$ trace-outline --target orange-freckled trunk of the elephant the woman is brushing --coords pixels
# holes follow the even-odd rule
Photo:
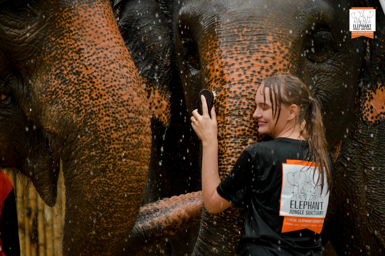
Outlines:
[[[263,27],[261,24],[259,26]],[[229,174],[243,150],[252,143],[263,140],[263,136],[258,133],[258,122],[252,117],[255,110],[255,93],[262,78],[278,70],[285,73],[284,70],[289,66],[288,49],[281,48],[279,51],[275,49],[276,45],[272,43],[275,40],[273,36],[269,38],[271,42],[269,43],[266,38],[263,40],[265,33],[261,32],[260,28],[242,29],[246,32],[253,31],[255,34],[243,35],[244,41],[221,42],[221,38],[231,37],[227,33],[234,30],[222,31],[219,50],[210,55],[218,56],[218,59],[202,60],[202,66],[218,66],[216,75],[208,73],[210,72],[208,69],[205,70],[207,74],[204,77],[208,78],[208,87],[218,94],[215,109],[218,120],[218,170],[221,180]],[[247,38],[248,36],[252,38]],[[253,48],[253,52],[248,42],[260,44],[253,45],[256,47]],[[270,47],[269,52],[265,52],[267,47]],[[210,49],[204,49],[202,52],[209,51]],[[228,56],[224,57],[223,53]],[[229,56],[232,57],[228,58]],[[211,63],[204,63],[205,61]],[[229,208],[224,213],[214,215],[204,209],[193,255],[234,255],[240,238],[242,212],[243,209]],[[216,227],[222,228],[219,231]],[[214,249],[211,246],[213,240],[218,244]]]

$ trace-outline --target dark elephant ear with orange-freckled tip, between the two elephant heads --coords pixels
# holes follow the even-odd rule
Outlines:
[[[114,0],[117,25],[129,50],[151,110],[151,118],[171,123],[170,30],[155,0]]]

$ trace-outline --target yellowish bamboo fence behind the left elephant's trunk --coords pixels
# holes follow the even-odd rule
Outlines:
[[[8,173],[9,174],[9,173]],[[15,191],[21,256],[62,256],[65,187],[62,171],[57,202],[47,206],[26,178],[9,175]]]

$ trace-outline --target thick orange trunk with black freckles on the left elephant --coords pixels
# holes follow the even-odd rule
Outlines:
[[[124,254],[151,148],[141,80],[109,2],[61,2],[50,18],[55,32],[24,111],[57,138],[66,186],[63,254]]]

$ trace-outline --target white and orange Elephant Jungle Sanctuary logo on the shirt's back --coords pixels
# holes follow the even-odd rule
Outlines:
[[[329,192],[326,193],[327,181],[324,176],[321,193],[321,179],[317,183],[319,174],[315,170],[315,163],[308,161],[286,160],[282,164],[282,233],[305,228],[321,233]]]

